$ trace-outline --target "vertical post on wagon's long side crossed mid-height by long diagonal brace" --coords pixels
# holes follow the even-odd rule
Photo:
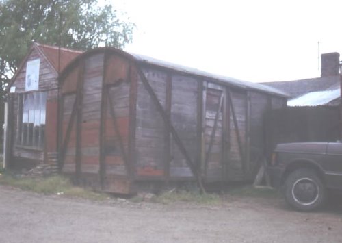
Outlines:
[[[168,73],[166,77],[166,100],[165,110],[168,119],[171,119],[171,104],[172,104],[172,75]],[[164,159],[164,173],[166,180],[170,179],[170,162],[171,162],[171,131],[170,125],[164,123],[164,142],[165,142],[165,159]]]

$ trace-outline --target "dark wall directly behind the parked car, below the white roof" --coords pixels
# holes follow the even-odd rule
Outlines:
[[[265,116],[267,155],[286,142],[336,142],[339,140],[339,107],[285,107]]]

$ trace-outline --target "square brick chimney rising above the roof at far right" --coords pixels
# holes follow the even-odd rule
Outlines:
[[[339,75],[339,62],[337,52],[321,54],[321,77]]]

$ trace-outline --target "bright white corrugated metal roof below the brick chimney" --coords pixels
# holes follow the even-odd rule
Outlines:
[[[338,99],[341,96],[341,91],[339,88],[335,90],[324,90],[317,92],[309,92],[302,95],[301,97],[291,99],[287,101],[288,106],[317,106],[326,105]]]

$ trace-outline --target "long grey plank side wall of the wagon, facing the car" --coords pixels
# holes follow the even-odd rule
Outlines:
[[[185,154],[206,181],[254,178],[266,150],[263,116],[272,107],[284,106],[285,98],[215,84],[146,64],[143,74],[162,109],[139,79],[135,128],[137,179],[194,179]]]

